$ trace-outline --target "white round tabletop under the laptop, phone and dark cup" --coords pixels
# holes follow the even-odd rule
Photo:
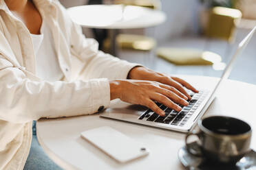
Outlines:
[[[215,77],[180,77],[198,88],[213,88],[218,80]],[[251,147],[256,149],[255,96],[255,85],[226,80],[204,116],[219,114],[248,122],[253,128]],[[120,164],[81,138],[81,132],[101,126],[113,127],[144,143],[151,151],[149,156]],[[36,128],[45,153],[64,169],[184,169],[177,155],[178,149],[184,146],[185,134],[179,132],[102,119],[99,114],[41,119]]]

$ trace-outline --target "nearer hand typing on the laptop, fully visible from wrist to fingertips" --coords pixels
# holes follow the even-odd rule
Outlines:
[[[151,82],[144,80],[109,80],[110,95],[112,99],[121,99],[130,104],[140,104],[147,106],[160,116],[164,116],[164,111],[160,109],[154,101],[164,104],[177,112],[182,108],[178,106],[187,106],[188,98],[180,93],[179,90],[161,84],[159,82]]]

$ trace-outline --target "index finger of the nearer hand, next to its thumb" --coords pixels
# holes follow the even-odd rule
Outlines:
[[[168,108],[172,108],[173,110],[176,110],[177,112],[180,112],[182,108],[175,104],[171,99],[168,97],[160,94],[160,93],[153,93],[151,95],[151,99],[158,101],[160,104],[164,104],[164,106],[167,106]]]

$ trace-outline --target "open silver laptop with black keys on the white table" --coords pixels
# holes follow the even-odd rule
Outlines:
[[[242,53],[246,45],[253,36],[256,27],[254,27],[249,34],[239,42],[239,45],[228,62],[224,73],[220,80],[211,89],[200,89],[199,93],[192,93],[188,90],[189,95],[192,99],[189,101],[189,106],[182,106],[180,112],[176,112],[171,108],[167,108],[163,104],[156,103],[165,112],[164,117],[160,117],[158,114],[150,109],[139,110],[139,106],[134,107],[123,107],[123,102],[119,102],[119,108],[108,108],[100,115],[102,118],[115,119],[119,121],[125,121],[129,123],[138,123],[141,125],[149,125],[152,127],[160,127],[167,130],[174,130],[178,132],[189,132],[196,125],[198,119],[206,112],[207,108],[210,106],[211,102],[215,98],[217,89],[223,84],[224,80],[228,78],[233,68],[233,64],[237,59],[237,56]],[[138,107],[138,110],[137,108]]]

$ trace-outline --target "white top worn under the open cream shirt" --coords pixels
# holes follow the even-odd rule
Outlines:
[[[36,75],[50,82],[63,78],[63,72],[58,64],[50,27],[45,22],[41,25],[41,34],[31,34],[36,60]]]

